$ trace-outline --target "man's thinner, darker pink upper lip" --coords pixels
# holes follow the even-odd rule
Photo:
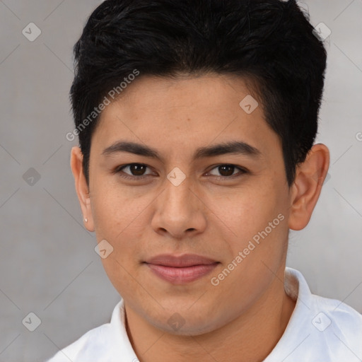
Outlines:
[[[185,254],[185,255],[171,255],[161,254],[156,257],[151,257],[146,260],[147,264],[163,265],[165,267],[192,267],[194,265],[209,265],[217,263],[216,260],[208,257],[202,257],[202,255]]]

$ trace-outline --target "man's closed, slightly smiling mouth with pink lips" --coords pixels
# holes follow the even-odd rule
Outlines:
[[[187,284],[206,276],[220,264],[201,255],[157,255],[144,262],[160,279],[171,284]]]

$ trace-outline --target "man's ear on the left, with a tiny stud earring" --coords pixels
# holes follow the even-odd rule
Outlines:
[[[81,204],[84,226],[88,231],[94,231],[91,198],[89,197],[86,177],[83,173],[83,154],[81,153],[81,148],[76,146],[71,148],[71,172],[74,175],[76,193],[78,195],[79,204]],[[85,219],[87,219],[87,222]]]

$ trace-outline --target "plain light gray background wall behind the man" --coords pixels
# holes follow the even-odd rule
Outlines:
[[[65,138],[73,130],[71,50],[100,2],[0,1],[0,362],[44,361],[108,322],[119,300],[83,228],[69,167],[76,141]],[[308,227],[291,232],[288,266],[313,293],[361,313],[362,0],[300,6],[313,26],[332,30],[317,139],[331,164]],[[34,42],[22,34],[30,22],[42,31]],[[29,168],[40,175],[33,185]],[[41,320],[34,332],[22,324],[30,312]]]

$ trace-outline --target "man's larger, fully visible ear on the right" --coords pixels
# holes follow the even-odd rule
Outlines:
[[[308,225],[329,168],[329,150],[324,144],[315,144],[305,161],[297,166],[292,185],[291,212],[288,227],[301,230]]]

